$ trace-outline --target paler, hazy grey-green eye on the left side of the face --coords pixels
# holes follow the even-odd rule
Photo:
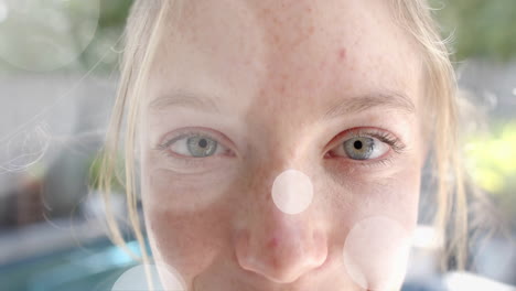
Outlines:
[[[215,139],[198,133],[174,138],[163,144],[162,148],[175,154],[192,158],[208,158],[226,151],[225,147],[219,144]]]

